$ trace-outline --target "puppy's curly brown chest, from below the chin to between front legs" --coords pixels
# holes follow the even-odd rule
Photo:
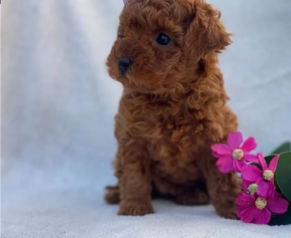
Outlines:
[[[127,103],[120,116],[130,134],[145,143],[154,173],[181,183],[196,179],[203,141],[194,116],[171,113],[167,105]]]

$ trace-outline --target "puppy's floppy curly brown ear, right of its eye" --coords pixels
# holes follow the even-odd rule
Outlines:
[[[208,53],[220,52],[231,44],[230,34],[220,21],[221,13],[203,0],[193,2],[190,20],[186,21],[185,52],[199,61]]]

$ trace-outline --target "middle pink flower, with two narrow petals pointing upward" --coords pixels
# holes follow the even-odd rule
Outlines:
[[[266,197],[270,195],[274,189],[274,172],[279,156],[274,156],[269,167],[262,153],[258,153],[257,157],[262,170],[259,170],[254,165],[246,165],[241,170],[241,176],[244,180],[245,187],[255,183],[258,186],[256,191],[257,194]]]

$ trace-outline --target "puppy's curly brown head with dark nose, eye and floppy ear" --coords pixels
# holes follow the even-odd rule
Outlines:
[[[204,0],[127,0],[108,72],[132,90],[181,90],[201,75],[205,56],[231,43],[229,36],[220,12]]]

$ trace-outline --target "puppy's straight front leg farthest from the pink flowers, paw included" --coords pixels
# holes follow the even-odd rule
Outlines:
[[[150,161],[139,144],[119,148],[120,205],[119,215],[142,216],[153,213],[151,204]]]

